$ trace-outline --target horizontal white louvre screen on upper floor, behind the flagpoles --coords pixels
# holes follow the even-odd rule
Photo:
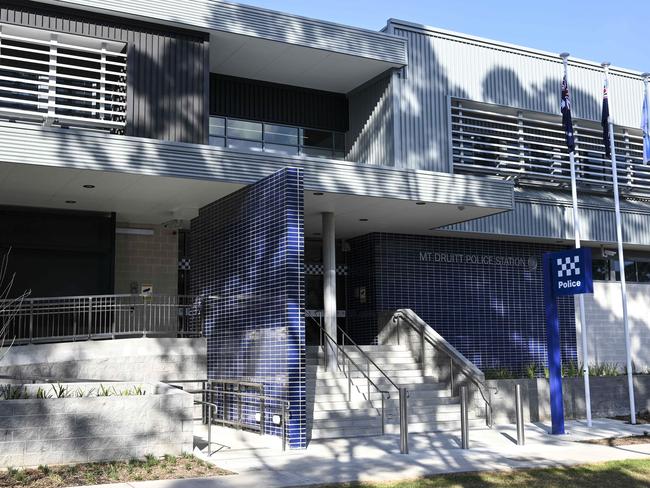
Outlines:
[[[561,117],[485,103],[452,100],[454,172],[498,176],[520,184],[563,188],[571,172]],[[574,120],[578,185],[611,191],[611,160],[605,158],[600,123]],[[622,193],[650,196],[650,165],[643,164],[641,131],[615,129]]]

